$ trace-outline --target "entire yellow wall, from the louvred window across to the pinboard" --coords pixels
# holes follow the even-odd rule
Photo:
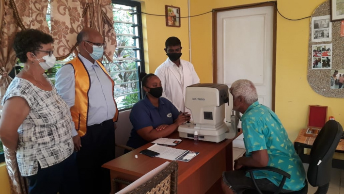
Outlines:
[[[325,0],[277,0],[279,11],[288,18],[311,16]],[[165,4],[181,8],[181,16],[188,16],[187,0],[142,0],[142,11],[165,14]],[[190,0],[190,15],[212,9],[230,7],[264,0]],[[144,46],[147,72],[166,60],[166,38],[177,36],[183,47],[182,59],[189,60],[188,18],[181,19],[181,27],[166,27],[165,17],[144,15]],[[309,105],[328,106],[328,116],[333,115],[344,125],[343,100],[318,95],[307,81],[307,57],[310,18],[290,21],[277,15],[276,96],[275,112],[279,115],[290,139],[295,140],[298,130],[307,126]],[[212,13],[191,17],[191,60],[201,82],[212,82]],[[297,54],[296,54],[297,53]]]

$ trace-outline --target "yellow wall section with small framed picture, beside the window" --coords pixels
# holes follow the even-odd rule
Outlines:
[[[142,12],[165,15],[165,5],[180,7],[182,17],[188,16],[188,0],[141,0]],[[166,59],[165,41],[170,36],[176,36],[182,43],[182,59],[189,61],[188,18],[181,18],[181,27],[167,27],[165,16],[150,16],[142,14],[143,41],[145,49],[146,72],[154,73],[156,67]],[[148,53],[148,54],[147,54]]]

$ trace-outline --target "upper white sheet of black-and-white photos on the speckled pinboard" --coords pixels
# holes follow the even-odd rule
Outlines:
[[[312,17],[312,42],[332,40],[332,22],[330,16]]]

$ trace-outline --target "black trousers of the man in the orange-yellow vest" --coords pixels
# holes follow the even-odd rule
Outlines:
[[[82,194],[109,194],[110,171],[101,166],[115,158],[115,129],[112,120],[87,127],[77,154]]]

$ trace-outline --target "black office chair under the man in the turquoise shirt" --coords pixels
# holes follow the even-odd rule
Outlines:
[[[310,164],[307,171],[308,182],[313,187],[318,187],[316,194],[326,194],[328,191],[329,181],[331,178],[330,172],[332,168],[332,158],[336,147],[341,139],[343,128],[340,123],[335,120],[329,120],[325,123],[324,127],[320,130],[318,136],[315,138],[311,153]],[[286,178],[290,178],[290,175],[278,168],[266,167],[266,168],[252,168],[246,172],[250,173],[252,181],[256,186],[256,192],[263,194],[257,187],[255,180],[252,176],[252,172],[255,170],[268,170],[283,175],[283,179],[277,191],[274,194],[279,194]],[[288,193],[288,194],[307,194],[308,184],[300,191]],[[245,191],[245,194],[252,194],[252,190]],[[256,193],[253,192],[253,193]],[[266,193],[266,192],[264,192]]]

